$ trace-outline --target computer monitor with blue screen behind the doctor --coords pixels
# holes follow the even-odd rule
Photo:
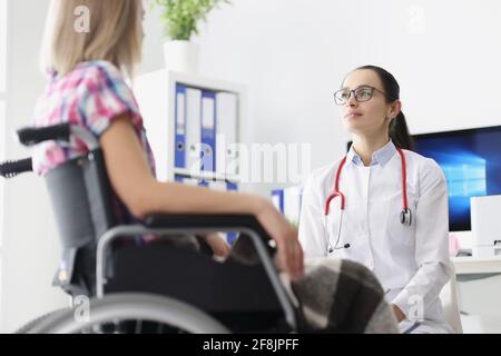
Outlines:
[[[501,194],[501,126],[414,135],[416,152],[442,168],[449,230],[471,230],[470,197]]]

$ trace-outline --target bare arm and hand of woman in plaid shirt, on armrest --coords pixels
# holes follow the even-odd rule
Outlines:
[[[160,182],[151,175],[140,142],[126,115],[116,118],[101,135],[108,177],[117,196],[137,218],[151,212],[252,214],[276,240],[278,258],[291,275],[303,271],[297,231],[257,196],[215,191],[176,182]]]

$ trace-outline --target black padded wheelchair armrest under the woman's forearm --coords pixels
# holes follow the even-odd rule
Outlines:
[[[236,230],[247,228],[264,243],[272,240],[253,215],[244,214],[151,214],[145,218],[148,228],[222,228]]]

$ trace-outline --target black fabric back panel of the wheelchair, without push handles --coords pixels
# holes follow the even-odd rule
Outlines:
[[[70,295],[94,295],[96,245],[115,226],[111,190],[100,149],[71,159],[46,175],[62,257],[53,285]]]

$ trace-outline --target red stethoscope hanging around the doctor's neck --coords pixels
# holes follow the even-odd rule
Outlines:
[[[406,182],[406,164],[405,164],[405,156],[402,151],[401,148],[396,148],[396,151],[400,155],[400,160],[401,160],[401,169],[402,169],[402,211],[400,212],[400,222],[402,225],[405,226],[411,226],[412,224],[412,215],[411,215],[411,210],[409,209],[407,206],[407,190],[405,187],[405,182]],[[345,244],[341,247],[337,247],[337,244],[340,243],[340,238],[341,238],[341,227],[343,225],[343,211],[344,211],[344,195],[340,191],[340,176],[341,176],[341,170],[343,169],[344,164],[346,162],[346,156],[341,160],[340,165],[337,166],[337,170],[336,170],[336,175],[334,178],[334,188],[331,192],[331,195],[327,197],[327,200],[325,201],[325,208],[324,208],[324,228],[325,228],[325,236],[326,236],[326,240],[327,240],[327,253],[332,254],[334,253],[334,250],[336,249],[342,249],[342,248],[350,248],[350,244]],[[332,246],[331,244],[331,239],[328,238],[328,233],[327,233],[327,216],[328,216],[328,207],[331,206],[331,201],[335,198],[335,197],[340,197],[341,199],[341,216],[340,216],[340,224],[337,225],[337,238],[336,238],[336,243],[334,246]]]

